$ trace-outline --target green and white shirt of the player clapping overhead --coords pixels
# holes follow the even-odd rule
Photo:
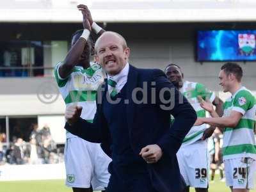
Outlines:
[[[86,69],[75,66],[72,73],[63,79],[58,72],[60,62],[54,69],[54,75],[66,106],[72,104],[82,106],[81,118],[92,122],[96,113],[96,93],[98,87],[104,81],[104,74],[99,64],[90,64],[91,66]],[[67,138],[76,137],[70,132],[67,132],[66,136]]]

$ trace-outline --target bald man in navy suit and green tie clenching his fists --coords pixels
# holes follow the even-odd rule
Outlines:
[[[90,124],[79,118],[81,108],[70,106],[65,129],[101,143],[111,156],[107,191],[182,191],[176,153],[196,120],[194,109],[161,70],[129,65],[130,49],[118,33],[103,33],[95,52],[108,74],[97,92],[97,113]]]

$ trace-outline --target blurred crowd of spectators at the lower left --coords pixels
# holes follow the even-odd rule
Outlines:
[[[38,125],[32,124],[29,141],[19,137],[19,129],[15,131],[9,145],[6,143],[6,134],[0,133],[0,165],[63,162],[63,147],[58,147],[52,140],[47,125],[38,129]]]

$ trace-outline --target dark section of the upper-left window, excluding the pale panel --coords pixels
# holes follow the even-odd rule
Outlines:
[[[43,46],[40,41],[0,42],[0,76],[43,76]]]

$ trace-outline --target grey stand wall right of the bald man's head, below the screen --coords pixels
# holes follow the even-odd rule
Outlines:
[[[182,68],[185,79],[204,83],[211,90],[221,91],[218,74],[225,62],[196,62],[193,39],[136,40],[128,41],[127,44],[131,47],[130,62],[134,66],[164,70],[168,63],[176,63]],[[244,71],[244,86],[256,91],[256,62],[239,62],[239,65]]]

